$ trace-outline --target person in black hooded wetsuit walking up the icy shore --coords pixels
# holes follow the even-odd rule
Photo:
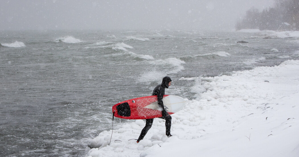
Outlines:
[[[172,136],[170,134],[170,128],[171,128],[171,116],[167,113],[167,111],[164,108],[163,104],[163,95],[165,95],[165,88],[168,88],[171,84],[171,79],[168,76],[165,76],[162,79],[162,83],[159,84],[157,87],[152,92],[152,95],[156,95],[158,97],[158,105],[162,108],[162,119],[166,120],[165,121],[165,127],[166,127],[166,135],[167,137]],[[144,128],[142,129],[140,136],[137,140],[137,143],[144,138],[144,136],[147,134],[147,131],[152,127],[152,122],[154,121],[154,118],[152,119],[146,119],[146,124]]]

